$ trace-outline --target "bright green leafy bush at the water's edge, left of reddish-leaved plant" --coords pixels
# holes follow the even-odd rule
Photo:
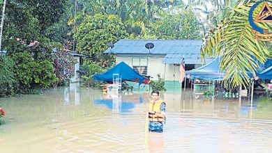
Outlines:
[[[15,53],[15,86],[18,93],[31,93],[36,88],[48,88],[56,81],[54,67],[50,61],[36,61],[25,52]]]

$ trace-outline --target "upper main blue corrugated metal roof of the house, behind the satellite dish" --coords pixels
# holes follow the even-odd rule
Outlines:
[[[104,53],[149,54],[144,47],[149,42],[154,44],[151,54],[199,54],[200,57],[202,40],[119,40]]]

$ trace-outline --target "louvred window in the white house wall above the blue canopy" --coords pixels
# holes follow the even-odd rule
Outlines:
[[[133,69],[139,74],[147,74],[147,58],[133,58]]]

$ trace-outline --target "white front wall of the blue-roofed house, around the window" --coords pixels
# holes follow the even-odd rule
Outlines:
[[[133,67],[132,58],[139,57],[145,58],[146,54],[138,54],[135,56],[127,56],[127,55],[118,55],[116,57],[116,64],[120,62],[125,62],[126,64]],[[163,58],[164,55],[157,56],[148,56],[148,65],[147,65],[147,75],[153,77],[152,80],[158,80],[157,74],[160,74],[160,77],[165,77],[165,81],[179,81],[179,66],[175,66],[173,64],[164,64]]]

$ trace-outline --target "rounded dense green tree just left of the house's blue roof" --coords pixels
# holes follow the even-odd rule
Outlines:
[[[75,33],[78,51],[100,62],[105,60],[102,53],[108,48],[106,43],[126,36],[128,33],[117,15],[86,15]]]

